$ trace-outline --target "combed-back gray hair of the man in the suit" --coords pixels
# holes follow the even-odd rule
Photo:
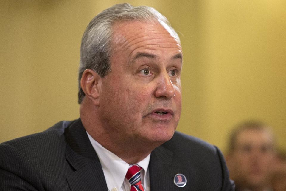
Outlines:
[[[112,56],[111,40],[113,25],[118,21],[150,21],[167,24],[172,35],[179,41],[178,34],[171,27],[165,16],[156,9],[147,6],[133,7],[130,4],[116,4],[95,16],[83,34],[80,47],[80,67],[78,76],[78,103],[83,101],[85,93],[80,87],[80,80],[84,70],[92,69],[101,78],[111,70],[109,58]]]

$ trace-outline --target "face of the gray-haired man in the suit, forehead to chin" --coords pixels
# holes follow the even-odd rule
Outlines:
[[[102,123],[120,140],[169,140],[181,115],[180,43],[161,24],[126,21],[114,25],[112,44],[111,72],[102,78]]]

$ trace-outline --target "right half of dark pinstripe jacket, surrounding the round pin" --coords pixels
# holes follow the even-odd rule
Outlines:
[[[198,138],[179,132],[170,141],[153,150],[149,173],[151,190],[161,190],[163,186],[164,190],[172,191],[234,190],[220,151]],[[178,173],[186,176],[186,186],[175,186],[173,178]]]

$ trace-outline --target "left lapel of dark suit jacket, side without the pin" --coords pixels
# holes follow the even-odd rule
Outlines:
[[[66,128],[65,137],[66,160],[74,169],[66,175],[71,190],[108,190],[99,158],[80,119]]]

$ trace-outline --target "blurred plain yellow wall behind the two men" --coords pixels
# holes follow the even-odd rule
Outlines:
[[[79,117],[80,41],[113,4],[164,14],[184,52],[178,129],[225,151],[234,125],[265,121],[286,148],[286,1],[1,0],[0,142]]]

